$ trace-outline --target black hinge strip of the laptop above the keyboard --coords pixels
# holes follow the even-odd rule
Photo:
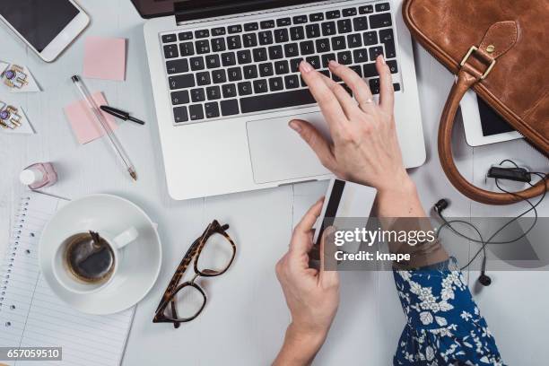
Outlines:
[[[311,0],[236,0],[180,1],[174,3],[176,22],[195,21],[224,15],[311,3]]]

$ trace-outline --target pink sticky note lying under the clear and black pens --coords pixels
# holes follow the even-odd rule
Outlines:
[[[102,92],[96,92],[92,95],[93,100],[98,106],[107,105],[107,100]],[[101,110],[101,114],[110,128],[117,128],[117,123],[114,118]],[[70,125],[73,127],[76,140],[80,144],[88,144],[89,142],[105,135],[105,131],[99,125],[99,121],[95,119],[92,110],[88,107],[84,100],[77,100],[65,107],[65,115],[68,118]]]

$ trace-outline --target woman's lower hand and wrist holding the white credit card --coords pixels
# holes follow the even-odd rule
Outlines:
[[[276,276],[292,314],[292,324],[286,331],[283,349],[274,361],[275,365],[312,362],[324,344],[339,305],[337,272],[325,271],[322,255],[320,269],[309,268],[312,227],[322,210],[322,203],[321,199],[303,216],[293,231],[290,249],[276,264]],[[324,253],[323,247],[324,238],[320,253]]]

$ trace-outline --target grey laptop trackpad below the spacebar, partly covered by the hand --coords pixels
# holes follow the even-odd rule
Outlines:
[[[309,145],[288,126],[294,118],[309,121],[322,135],[328,135],[324,117],[318,112],[247,123],[249,151],[257,184],[330,174]]]

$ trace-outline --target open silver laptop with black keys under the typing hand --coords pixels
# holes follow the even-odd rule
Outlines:
[[[396,90],[405,166],[425,161],[402,0],[132,0],[146,53],[170,196],[184,200],[331,179],[288,122],[327,135],[298,65],[349,65],[379,94],[383,54]]]

